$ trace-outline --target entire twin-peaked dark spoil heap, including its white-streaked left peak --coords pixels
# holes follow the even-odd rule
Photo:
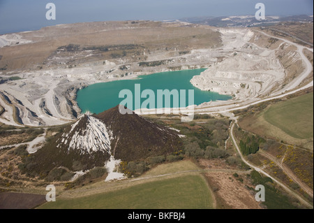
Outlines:
[[[99,115],[84,115],[50,138],[29,159],[27,173],[47,175],[60,166],[86,171],[104,166],[114,157],[124,161],[172,154],[179,150],[179,136],[165,127],[133,114],[121,115],[116,106]]]

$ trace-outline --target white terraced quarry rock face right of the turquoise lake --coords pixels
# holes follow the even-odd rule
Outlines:
[[[220,32],[225,57],[194,76],[190,82],[195,87],[248,100],[281,89],[304,70],[297,48],[283,41],[248,29]]]

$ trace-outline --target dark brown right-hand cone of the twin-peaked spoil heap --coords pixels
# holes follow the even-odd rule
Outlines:
[[[121,115],[119,106],[95,117],[102,120],[112,132],[111,147],[115,159],[132,161],[179,149],[179,136],[175,131],[135,113]]]

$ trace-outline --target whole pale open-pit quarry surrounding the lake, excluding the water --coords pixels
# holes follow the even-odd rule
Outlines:
[[[0,36],[0,122],[52,126],[81,114],[78,89],[161,71],[205,68],[190,82],[228,94],[189,113],[225,113],[313,87],[306,48],[257,29],[186,22],[61,24]],[[136,110],[139,114],[154,110]]]

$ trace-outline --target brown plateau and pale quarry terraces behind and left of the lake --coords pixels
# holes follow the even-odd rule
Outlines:
[[[194,50],[211,51],[220,43],[220,33],[211,27],[181,22],[88,22],[1,35],[1,91],[24,104],[6,110],[19,108],[22,123],[29,126],[72,122],[81,112],[77,89],[207,66],[216,59]],[[18,79],[6,80],[11,73]],[[38,117],[31,117],[27,109]],[[12,114],[0,116],[0,122],[18,125]]]

